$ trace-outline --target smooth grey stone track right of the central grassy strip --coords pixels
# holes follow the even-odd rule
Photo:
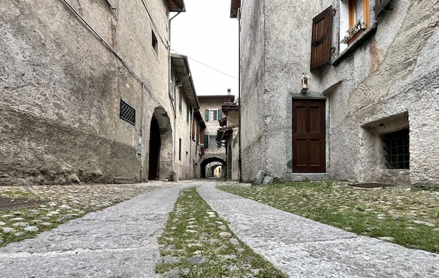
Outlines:
[[[215,188],[201,197],[289,277],[439,277],[439,254],[362,237]]]

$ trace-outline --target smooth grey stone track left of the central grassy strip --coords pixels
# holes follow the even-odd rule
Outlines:
[[[1,277],[156,277],[156,239],[185,187],[161,188],[0,249]]]

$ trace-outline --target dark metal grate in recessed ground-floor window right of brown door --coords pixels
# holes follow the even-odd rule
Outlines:
[[[403,129],[384,135],[386,143],[386,166],[389,169],[409,169],[410,168],[410,151],[409,151],[409,129]]]

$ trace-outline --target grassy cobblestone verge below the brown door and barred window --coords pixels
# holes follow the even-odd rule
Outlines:
[[[365,189],[330,181],[217,187],[356,234],[439,253],[438,191]]]

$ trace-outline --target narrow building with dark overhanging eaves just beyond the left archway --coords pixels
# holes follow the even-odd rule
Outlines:
[[[200,178],[201,133],[206,126],[200,113],[187,56],[172,53],[175,117],[175,171],[180,179]]]

